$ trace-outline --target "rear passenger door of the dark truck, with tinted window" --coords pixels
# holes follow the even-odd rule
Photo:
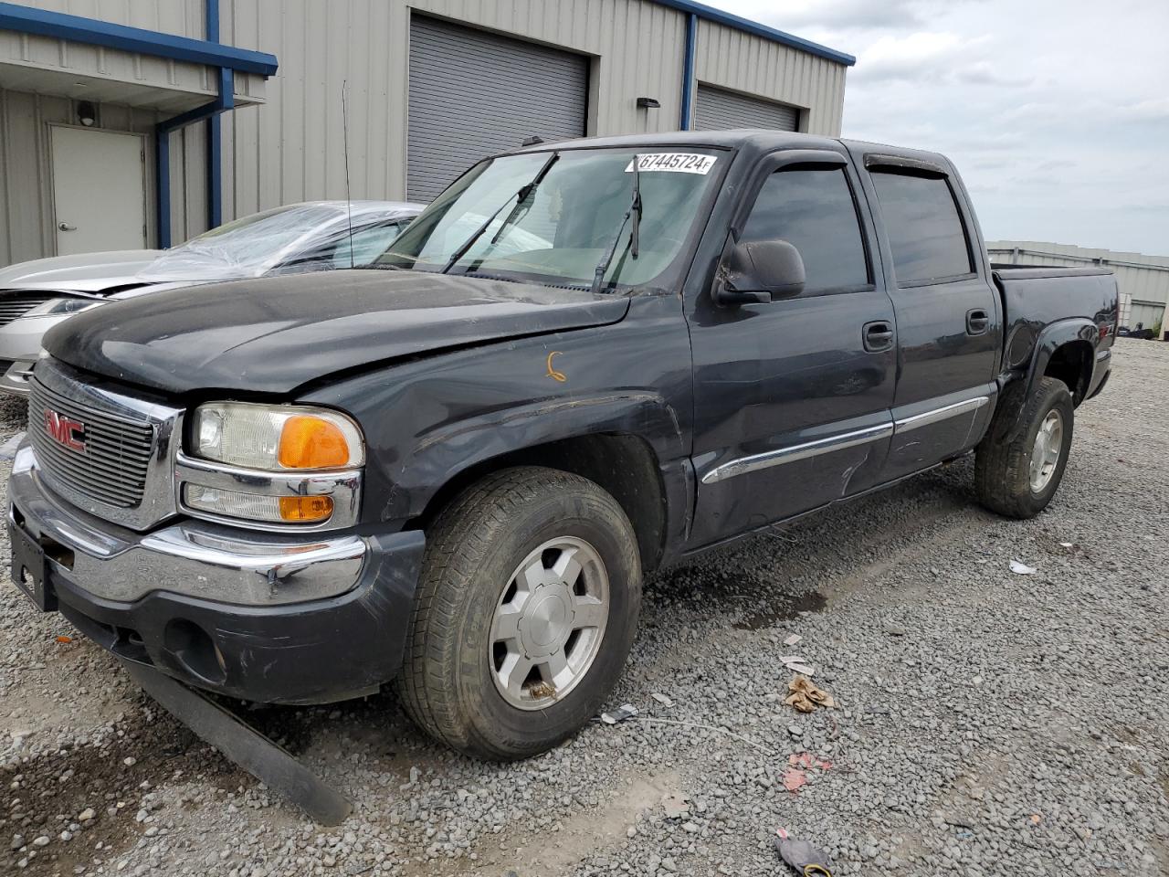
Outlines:
[[[897,313],[894,435],[883,474],[892,479],[981,437],[996,392],[1001,304],[950,168],[873,154],[864,163]]]

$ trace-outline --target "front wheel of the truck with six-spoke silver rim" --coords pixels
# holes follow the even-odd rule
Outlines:
[[[575,578],[566,558],[582,565]],[[422,730],[468,755],[545,752],[596,714],[613,689],[637,630],[641,592],[634,527],[609,493],[555,469],[490,475],[427,530],[397,681],[402,704]],[[567,634],[567,663],[545,655],[574,623],[594,626]],[[527,660],[537,662],[534,676],[524,675]]]

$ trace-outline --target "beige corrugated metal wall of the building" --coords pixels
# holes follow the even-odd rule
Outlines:
[[[27,0],[87,18],[203,36],[203,0]],[[589,56],[588,133],[672,131],[682,104],[687,16],[649,0],[220,0],[220,39],[274,53],[279,71],[267,104],[223,116],[223,217],[345,194],[341,84],[348,82],[354,196],[406,192],[411,9]],[[801,127],[839,133],[846,68],[733,28],[699,22],[697,78],[804,108]],[[638,97],[660,109],[639,110]],[[49,255],[51,229],[27,210],[51,209],[47,120],[69,120],[69,102],[8,92],[0,189],[0,263]],[[30,106],[29,102],[37,104]],[[102,106],[117,127],[116,106]],[[145,131],[153,113],[123,111],[122,130]],[[132,118],[131,118],[132,117]],[[34,130],[35,129],[35,130]],[[172,140],[173,240],[201,232],[206,144],[201,126]],[[25,154],[26,151],[29,154]],[[153,150],[148,150],[153,153]],[[37,156],[34,160],[30,156]],[[151,157],[153,160],[153,157]],[[14,194],[41,193],[20,202]],[[151,193],[153,198],[153,193]],[[36,205],[36,206],[30,206]],[[151,229],[153,235],[153,228]]]

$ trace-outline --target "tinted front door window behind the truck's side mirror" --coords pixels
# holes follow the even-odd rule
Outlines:
[[[795,246],[808,275],[804,295],[870,283],[857,207],[843,168],[773,173],[759,192],[742,240],[784,240]]]

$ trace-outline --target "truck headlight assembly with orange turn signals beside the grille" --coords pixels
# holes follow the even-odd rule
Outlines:
[[[344,414],[209,402],[192,415],[188,448],[179,478],[193,513],[285,526],[353,523],[365,442]]]

